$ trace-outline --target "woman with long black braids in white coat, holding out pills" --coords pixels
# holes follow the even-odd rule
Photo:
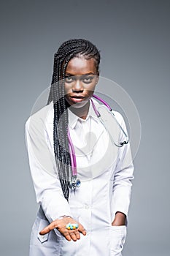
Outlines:
[[[134,167],[129,143],[115,146],[98,118],[101,105],[92,96],[99,63],[100,53],[88,40],[63,42],[54,56],[47,106],[26,122],[40,206],[30,256],[121,255]],[[125,130],[120,113],[115,117]],[[117,141],[125,138],[117,127],[112,133]]]

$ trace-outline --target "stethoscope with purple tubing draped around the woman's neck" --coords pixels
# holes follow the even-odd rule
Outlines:
[[[96,113],[96,116],[99,118],[99,120],[101,121],[101,124],[104,125],[104,128],[107,130],[108,134],[109,134],[109,138],[112,140],[112,143],[115,144],[115,146],[117,147],[122,147],[125,144],[128,144],[128,135],[125,133],[123,127],[121,127],[121,125],[119,124],[119,122],[117,121],[117,119],[115,118],[115,114],[113,113],[112,108],[110,108],[110,106],[107,104],[107,102],[104,101],[104,99],[101,99],[100,97],[98,97],[97,95],[93,94],[93,97],[98,99],[101,103],[103,103],[106,107],[108,112],[112,115],[112,117],[115,119],[118,127],[120,127],[120,130],[123,132],[123,134],[125,135],[126,141],[122,141],[119,144],[115,143],[115,140],[113,140],[112,136],[110,135],[106,125],[104,124],[103,119],[101,118],[101,114],[98,112],[98,110],[96,109],[96,106],[94,105],[94,102],[92,99],[90,99],[90,102],[92,103],[93,106],[93,110]],[[70,132],[68,129],[68,139],[69,139],[69,152],[70,152],[70,157],[71,157],[71,164],[72,164],[72,180],[70,182],[70,188],[73,189],[75,191],[76,188],[80,187],[81,185],[81,181],[79,178],[77,178],[77,162],[76,162],[76,155],[75,155],[75,151],[74,151],[74,146],[72,143],[72,139],[70,136]]]

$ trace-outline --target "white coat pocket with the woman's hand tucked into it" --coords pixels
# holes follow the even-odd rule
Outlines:
[[[110,252],[111,256],[120,256],[125,244],[126,226],[110,227]]]

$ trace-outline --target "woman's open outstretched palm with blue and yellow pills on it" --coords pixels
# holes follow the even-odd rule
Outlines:
[[[75,230],[68,230],[66,228],[67,224],[74,224],[74,223],[78,223],[77,221],[75,221],[74,219],[72,219],[72,217],[63,217],[62,219],[55,219],[53,222],[50,223],[50,225],[48,225],[47,227],[45,227],[43,230],[41,230],[39,232],[40,235],[45,235],[47,233],[49,233],[51,230],[53,230],[54,228],[57,228],[58,231],[66,238],[66,240],[68,241],[77,241],[77,239],[80,239],[80,233],[82,233],[82,235],[86,235],[86,231],[85,228],[78,223],[79,227]]]

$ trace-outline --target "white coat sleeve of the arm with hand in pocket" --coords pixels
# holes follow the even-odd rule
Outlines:
[[[117,121],[123,127],[127,134],[125,121],[120,113],[115,113]],[[120,141],[126,140],[123,132],[120,132]],[[123,212],[128,217],[128,208],[131,200],[131,180],[134,178],[134,165],[131,157],[130,143],[122,146],[118,150],[117,165],[115,168],[115,176],[113,182],[113,213],[117,211]]]

